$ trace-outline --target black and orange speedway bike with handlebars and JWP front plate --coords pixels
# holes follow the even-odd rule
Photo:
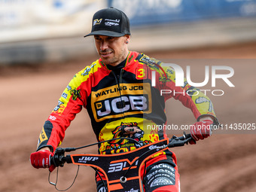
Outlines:
[[[130,139],[130,138],[117,138],[117,139]],[[106,184],[103,182],[105,191],[107,192],[124,192],[124,191],[133,191],[133,192],[143,192],[142,185],[142,175],[140,170],[142,165],[146,163],[150,157],[154,154],[160,153],[168,148],[175,148],[178,146],[183,146],[187,144],[191,139],[190,134],[184,133],[183,136],[177,137],[172,136],[171,139],[163,139],[158,142],[154,142],[148,145],[143,145],[140,148],[137,148],[133,151],[128,151],[120,154],[65,154],[66,152],[75,151],[81,148],[87,148],[92,145],[99,145],[102,142],[96,142],[91,145],[85,145],[79,148],[56,148],[55,154],[51,157],[51,164],[57,168],[64,166],[65,163],[72,163],[79,166],[90,166],[96,173],[99,175],[99,178],[102,179],[99,172],[105,175]],[[110,139],[104,142],[111,142],[116,139]],[[137,142],[134,139],[131,139],[134,142]],[[137,142],[140,145],[139,142]],[[58,169],[57,169],[58,175]],[[77,172],[78,175],[78,172]],[[75,178],[77,177],[75,176]],[[56,190],[59,190],[56,187],[56,182],[53,183],[50,181],[49,173],[49,183],[53,184]],[[68,190],[74,184],[75,179]],[[59,190],[65,191],[65,190]]]

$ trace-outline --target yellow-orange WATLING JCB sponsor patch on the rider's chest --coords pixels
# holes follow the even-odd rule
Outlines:
[[[152,111],[150,84],[119,84],[91,94],[93,116],[97,122]]]

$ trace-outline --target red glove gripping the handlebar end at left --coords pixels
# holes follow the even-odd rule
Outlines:
[[[50,157],[53,156],[53,153],[47,150],[36,151],[35,153],[30,154],[30,163],[36,169],[38,168],[49,168],[49,171],[52,172],[55,169],[54,165],[50,165]]]

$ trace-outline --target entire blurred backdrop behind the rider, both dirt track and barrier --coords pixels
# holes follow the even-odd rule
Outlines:
[[[224,90],[224,96],[209,94],[221,123],[256,123],[256,0],[0,0],[0,191],[56,191],[46,169],[30,166],[29,155],[62,90],[98,59],[93,37],[84,35],[93,14],[110,6],[130,17],[130,50],[183,69],[191,66],[195,82],[203,81],[205,66],[232,67],[235,87],[218,81],[215,88],[210,83],[202,88]],[[176,101],[166,104],[166,114],[169,124],[194,123],[193,114]],[[256,191],[254,133],[230,130],[175,148],[181,191]],[[92,142],[83,110],[62,147]],[[60,189],[69,187],[76,168],[59,170]],[[93,177],[93,170],[82,167],[68,191],[96,191]]]

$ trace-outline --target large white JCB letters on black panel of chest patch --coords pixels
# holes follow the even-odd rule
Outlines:
[[[148,95],[117,96],[96,102],[94,105],[97,119],[123,112],[148,111]]]

